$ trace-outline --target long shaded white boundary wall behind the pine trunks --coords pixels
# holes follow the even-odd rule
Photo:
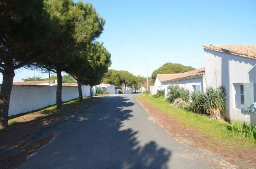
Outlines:
[[[57,86],[13,85],[8,115],[13,116],[56,104],[56,88]],[[90,96],[90,87],[82,87],[82,92],[83,96]],[[95,95],[95,92],[93,94]],[[63,102],[75,99],[78,96],[77,86],[62,87]]]

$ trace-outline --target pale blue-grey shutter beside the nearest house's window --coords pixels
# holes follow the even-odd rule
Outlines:
[[[254,102],[256,102],[255,83],[244,83],[244,110],[256,112]]]

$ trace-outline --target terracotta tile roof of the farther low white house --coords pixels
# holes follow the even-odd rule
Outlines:
[[[158,79],[161,82],[174,81],[182,78],[188,78],[193,76],[204,75],[204,67],[196,70],[192,70],[184,73],[172,73],[172,74],[157,74]]]

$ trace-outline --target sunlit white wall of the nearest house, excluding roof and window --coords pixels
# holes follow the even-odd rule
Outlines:
[[[256,60],[204,49],[205,81],[207,87],[227,88],[227,109],[223,116],[229,120],[256,124],[256,113],[236,108],[234,84],[256,82]]]

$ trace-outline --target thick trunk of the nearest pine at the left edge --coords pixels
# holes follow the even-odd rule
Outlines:
[[[8,112],[14,76],[13,70],[3,73],[3,84],[0,91],[0,127],[8,126]]]

